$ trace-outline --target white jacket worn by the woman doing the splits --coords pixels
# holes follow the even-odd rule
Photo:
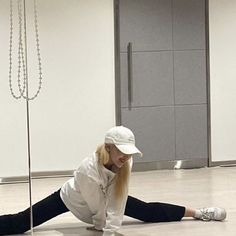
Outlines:
[[[60,192],[62,201],[77,218],[108,234],[120,228],[128,195],[127,188],[123,199],[116,203],[114,177],[115,173],[100,165],[93,153],[83,160]]]

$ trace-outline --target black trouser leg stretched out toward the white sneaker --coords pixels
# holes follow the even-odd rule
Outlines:
[[[180,221],[185,214],[185,207],[160,203],[143,202],[128,196],[125,215],[144,222],[169,222]]]

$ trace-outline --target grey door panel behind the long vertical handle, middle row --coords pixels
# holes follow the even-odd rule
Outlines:
[[[173,55],[133,52],[133,106],[173,105]],[[121,104],[128,106],[127,53],[121,53]]]

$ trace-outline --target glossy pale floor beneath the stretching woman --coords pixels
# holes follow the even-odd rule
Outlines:
[[[33,180],[33,202],[56,191],[68,178]],[[0,185],[0,214],[15,213],[28,206],[28,185]],[[144,224],[125,217],[117,236],[235,236],[236,167],[192,170],[161,170],[132,173],[130,195],[145,201],[159,201],[200,208],[220,206],[227,210],[224,222],[183,219],[181,222]],[[101,236],[71,213],[58,216],[34,229],[35,236]],[[31,235],[30,232],[24,235]]]

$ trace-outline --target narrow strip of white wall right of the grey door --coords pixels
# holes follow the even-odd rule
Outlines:
[[[212,161],[236,160],[236,1],[209,0]]]

